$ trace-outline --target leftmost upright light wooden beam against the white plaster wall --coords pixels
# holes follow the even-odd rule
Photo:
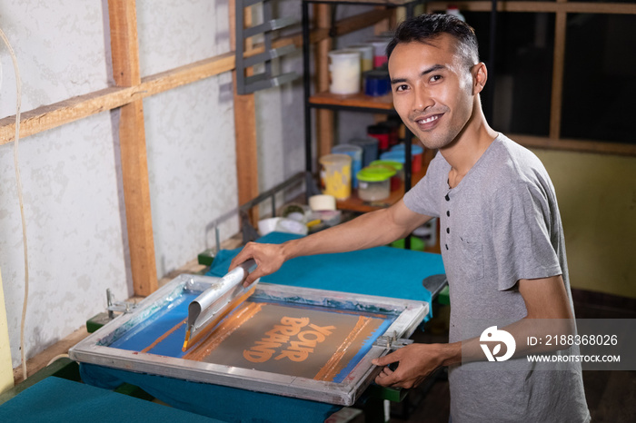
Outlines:
[[[108,15],[114,82],[117,86],[138,86],[141,74],[134,0],[108,0]],[[147,296],[158,284],[142,100],[121,107],[119,144],[134,294]]]

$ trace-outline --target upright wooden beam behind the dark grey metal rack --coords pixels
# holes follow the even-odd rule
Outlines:
[[[230,48],[236,50],[235,35],[235,3],[228,2],[230,14]],[[251,25],[251,9],[244,11],[242,25]],[[243,45],[243,48],[246,45]],[[252,44],[249,44],[252,47]],[[254,94],[240,95],[236,91],[236,70],[232,71],[234,84],[234,134],[236,141],[236,176],[238,184],[239,205],[249,202],[258,196],[258,145],[256,135],[256,101]],[[250,212],[250,220],[255,226],[258,223],[258,207]]]

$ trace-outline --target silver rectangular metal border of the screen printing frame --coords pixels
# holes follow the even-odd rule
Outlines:
[[[114,369],[167,376],[176,379],[224,385],[239,389],[267,392],[293,398],[304,398],[351,406],[366,389],[380,368],[371,360],[382,357],[389,349],[379,345],[363,356],[342,382],[307,379],[255,369],[206,363],[183,358],[154,355],[108,347],[127,330],[150,318],[154,312],[175,300],[184,291],[203,292],[220,278],[201,275],[180,275],[141,301],[133,312],[121,315],[69,350],[76,361]],[[363,283],[363,280],[361,280]],[[429,312],[424,301],[402,300],[333,290],[259,283],[253,293],[259,300],[282,301],[288,304],[310,305],[333,310],[353,310],[397,316],[382,336],[408,338]]]

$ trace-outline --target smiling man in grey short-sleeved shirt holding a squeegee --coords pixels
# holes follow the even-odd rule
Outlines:
[[[588,421],[580,367],[470,367],[485,360],[479,334],[466,335],[475,320],[506,321],[518,354],[528,350],[519,348],[522,339],[537,334],[533,321],[573,320],[552,182],[532,152],[486,122],[479,94],[488,73],[472,28],[449,15],[421,15],[396,29],[387,54],[395,110],[425,147],[439,150],[425,177],[387,209],[280,245],[248,243],[231,269],[253,258],[248,284],[293,257],[385,245],[439,217],[450,343],[412,344],[376,359],[383,370],[375,381],[412,388],[449,366],[453,422]],[[385,367],[391,363],[397,369]]]

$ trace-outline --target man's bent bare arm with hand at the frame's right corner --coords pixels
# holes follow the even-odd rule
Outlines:
[[[527,347],[525,339],[529,336],[542,337],[546,333],[571,333],[572,314],[563,278],[558,275],[536,280],[519,280],[518,285],[527,315],[504,328],[512,334],[517,346],[520,347],[515,351],[515,356],[555,349],[542,345]],[[550,320],[545,322],[545,319]],[[562,324],[555,327],[554,323],[559,321]],[[548,328],[549,332],[546,331],[546,324],[551,325]],[[411,344],[402,347],[373,360],[373,364],[377,366],[399,362],[398,368],[394,371],[385,367],[375,382],[383,386],[416,387],[438,367],[459,364],[462,361],[485,360],[479,342],[478,338],[472,338],[451,344]]]

